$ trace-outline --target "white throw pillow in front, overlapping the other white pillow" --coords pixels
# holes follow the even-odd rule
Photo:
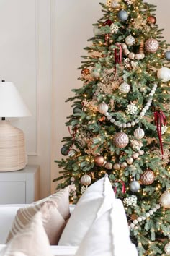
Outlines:
[[[120,200],[97,218],[75,256],[138,256],[131,243],[125,210]]]

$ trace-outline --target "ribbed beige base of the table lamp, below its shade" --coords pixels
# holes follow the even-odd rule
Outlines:
[[[24,133],[9,121],[0,121],[0,171],[18,171],[25,166]]]

